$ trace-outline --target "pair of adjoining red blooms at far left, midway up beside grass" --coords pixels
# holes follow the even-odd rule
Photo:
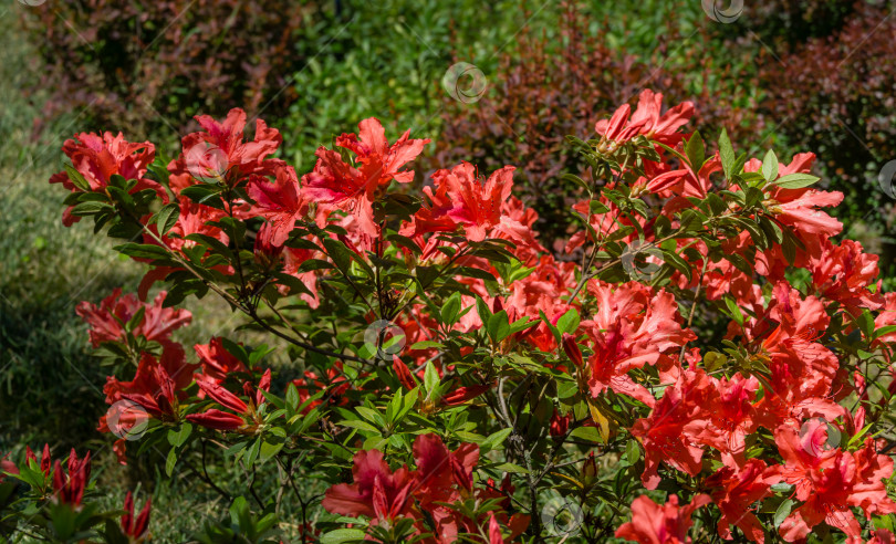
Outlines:
[[[152,304],[140,302],[133,293],[122,296],[122,289],[115,287],[111,295],[103,299],[100,306],[83,301],[75,312],[91,325],[90,337],[93,347],[103,342],[125,342],[125,325],[140,310],[144,315],[132,333],[150,342],[167,343],[171,333],[190,323],[192,315],[187,310],[163,307],[165,291],[159,292]]]

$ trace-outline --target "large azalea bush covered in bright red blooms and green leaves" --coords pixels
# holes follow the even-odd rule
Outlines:
[[[561,257],[512,166],[413,190],[429,140],[375,118],[301,176],[240,109],[173,160],[75,135],[63,221],[147,270],[77,307],[98,429],[221,495],[199,542],[893,542],[896,297],[835,241],[814,156],[707,144],[694,111],[647,90],[569,138],[590,168]],[[243,341],[188,354],[178,306],[206,296]],[[148,493],[100,508],[91,454],[7,456],[0,530],[147,541]]]

